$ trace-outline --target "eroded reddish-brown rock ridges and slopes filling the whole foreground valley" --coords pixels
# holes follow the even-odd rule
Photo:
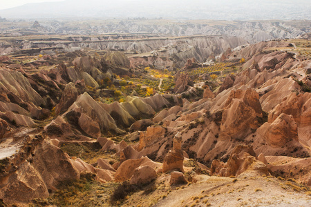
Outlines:
[[[116,51],[1,56],[0,204],[310,206],[310,54],[267,41],[176,73]]]

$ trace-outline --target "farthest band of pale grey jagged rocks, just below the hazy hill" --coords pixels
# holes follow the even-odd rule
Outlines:
[[[204,17],[207,19],[207,17]],[[211,18],[214,19],[214,18]],[[279,17],[278,17],[279,19]],[[227,35],[241,37],[249,43],[270,39],[296,38],[311,32],[310,20],[301,21],[216,21],[169,19],[38,19],[39,22],[0,21],[2,34],[10,36],[37,34],[113,34],[122,36],[151,35],[160,37],[182,37],[191,35]],[[36,22],[36,21],[35,21]],[[87,37],[85,37],[87,38]],[[124,38],[124,37],[122,37]]]

